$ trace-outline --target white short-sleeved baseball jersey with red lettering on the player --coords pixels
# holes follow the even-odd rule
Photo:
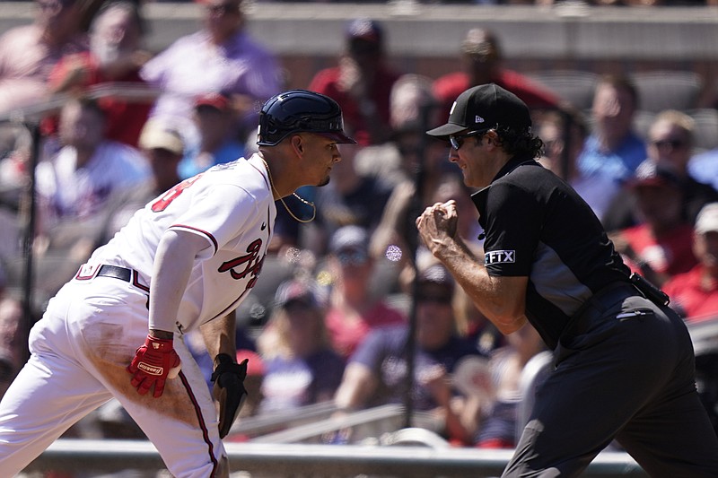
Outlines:
[[[207,240],[180,303],[187,332],[235,309],[257,281],[272,239],[276,206],[267,171],[255,154],[188,178],[138,211],[90,264],[135,269],[152,287],[154,253],[168,229]]]

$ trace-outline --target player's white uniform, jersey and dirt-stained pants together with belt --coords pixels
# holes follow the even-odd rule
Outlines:
[[[185,332],[226,315],[247,296],[275,218],[267,169],[255,154],[173,187],[95,251],[32,327],[30,361],[0,401],[1,473],[18,473],[68,426],[115,397],[173,476],[228,476],[215,404],[181,336],[175,335],[174,349],[182,369],[167,380],[162,396],[139,395],[127,364],[147,335],[148,287],[164,231],[206,238],[180,303],[178,328]],[[101,265],[136,272],[127,282],[98,274]]]

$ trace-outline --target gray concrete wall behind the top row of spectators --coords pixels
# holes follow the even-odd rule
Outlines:
[[[495,30],[510,67],[596,72],[689,69],[718,76],[718,8],[253,3],[248,28],[285,63],[291,86],[305,84],[343,47],[346,22],[383,22],[391,61],[406,73],[436,76],[454,69],[469,28]],[[0,2],[0,30],[31,22],[31,4]],[[157,51],[197,30],[201,6],[149,3],[148,47]]]

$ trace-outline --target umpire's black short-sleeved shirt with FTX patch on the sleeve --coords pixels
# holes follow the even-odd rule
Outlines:
[[[529,277],[526,317],[551,349],[594,292],[627,282],[591,207],[537,161],[513,158],[472,199],[486,233],[486,271]]]

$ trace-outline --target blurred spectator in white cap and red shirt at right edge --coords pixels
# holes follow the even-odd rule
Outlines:
[[[670,278],[663,291],[670,307],[688,322],[718,317],[718,203],[705,204],[696,219],[693,253],[698,264]]]

